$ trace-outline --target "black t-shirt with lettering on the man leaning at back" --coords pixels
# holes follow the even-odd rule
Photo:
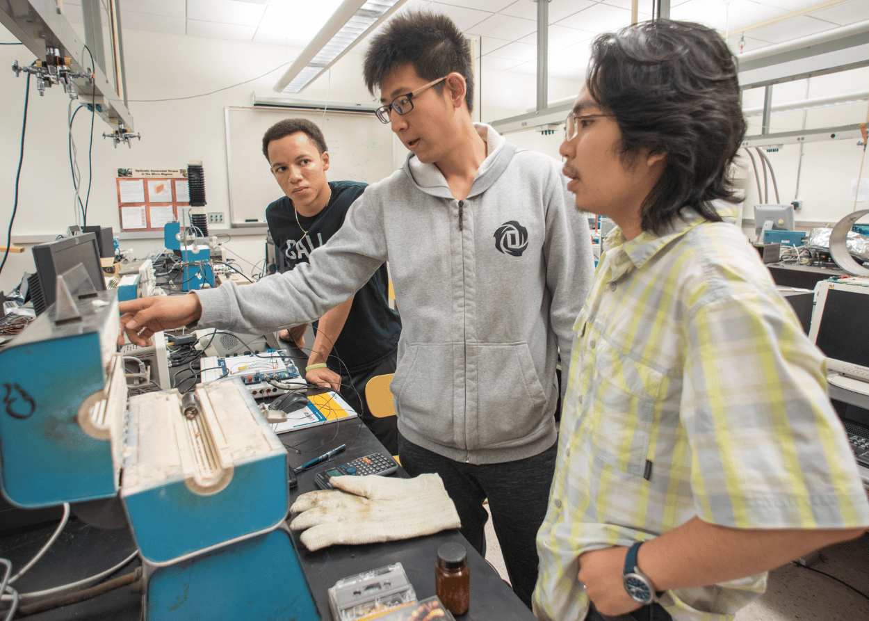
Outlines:
[[[297,223],[297,214],[289,197],[278,198],[266,209],[269,232],[278,253],[285,257],[287,270],[308,263],[310,253],[335,235],[344,224],[350,205],[365,190],[365,184],[355,181],[330,181],[328,185],[332,196],[314,217],[298,214]],[[308,231],[307,235],[304,230]],[[401,319],[395,310],[389,308],[388,283],[386,264],[382,264],[368,283],[356,292],[347,322],[329,354],[329,368],[344,371],[346,365],[352,372],[380,363],[395,352],[401,334]],[[316,329],[316,323],[314,325]],[[310,345],[306,344],[306,349]]]

